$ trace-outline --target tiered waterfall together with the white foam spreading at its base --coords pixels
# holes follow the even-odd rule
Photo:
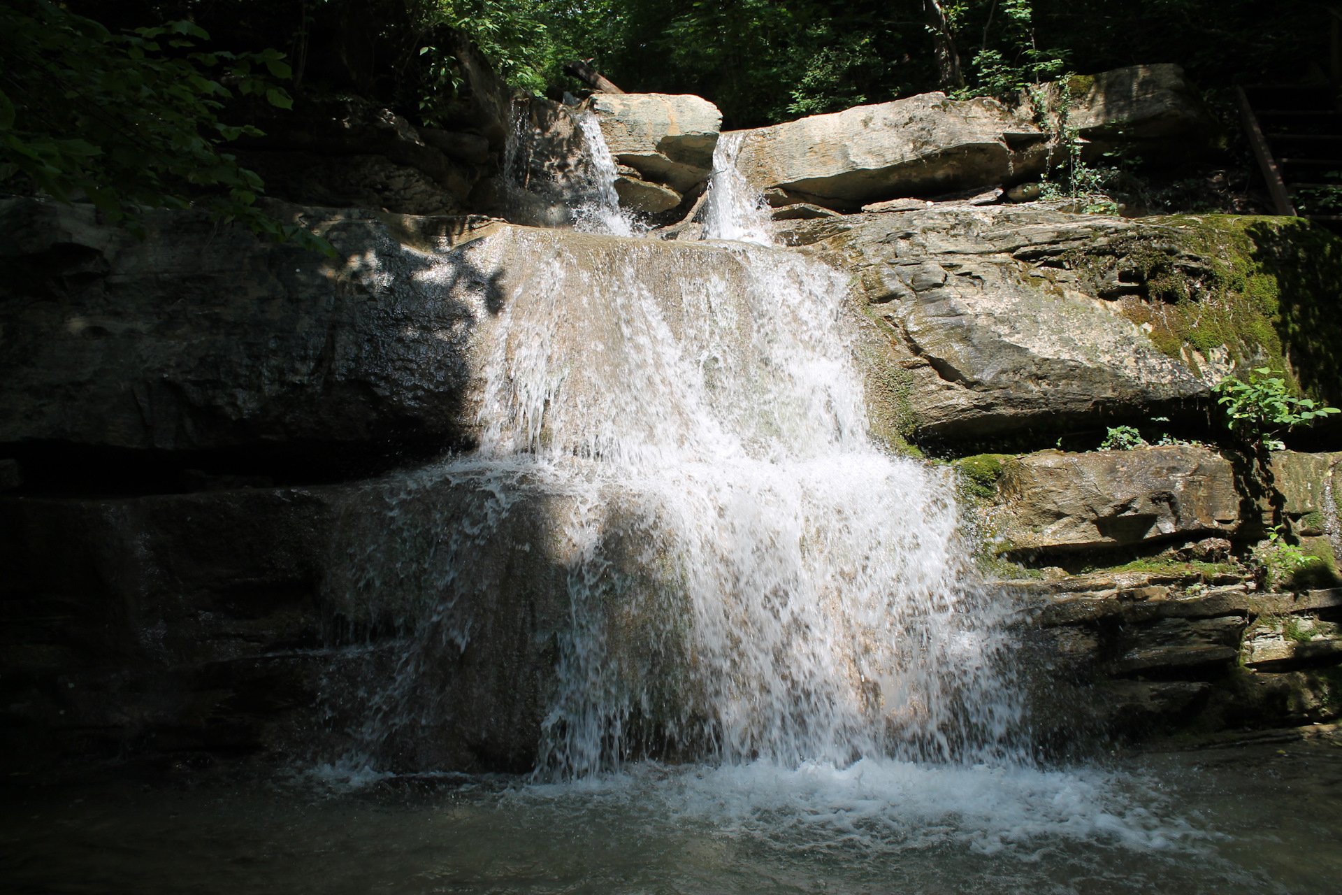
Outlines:
[[[726,172],[714,235],[758,211]],[[502,284],[480,444],[384,486],[329,569],[405,644],[329,780],[442,766],[455,738],[534,769],[517,810],[786,849],[1197,835],[1032,761],[1012,607],[976,581],[950,474],[872,444],[837,272],[523,228],[458,252],[425,287]]]

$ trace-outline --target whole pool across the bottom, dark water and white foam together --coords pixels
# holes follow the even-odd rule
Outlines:
[[[1342,878],[1327,741],[1056,772],[205,780],[11,778],[5,891],[1325,895]]]

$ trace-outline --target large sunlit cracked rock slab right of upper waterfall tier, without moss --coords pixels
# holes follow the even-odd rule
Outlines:
[[[872,413],[906,436],[1066,431],[1210,397],[1192,361],[1157,348],[1059,260],[1145,232],[1137,224],[958,205],[792,228],[801,236],[789,242],[815,243],[860,284]]]

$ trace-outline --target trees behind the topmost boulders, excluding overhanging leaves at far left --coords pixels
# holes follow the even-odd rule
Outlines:
[[[572,59],[629,91],[692,93],[727,127],[929,90],[1005,94],[1064,71],[1176,62],[1196,83],[1327,67],[1312,0],[72,0],[113,28],[192,20],[231,50],[285,51],[305,83],[415,117],[451,90],[442,28],[518,87],[576,90]],[[111,11],[115,11],[114,13]],[[111,19],[111,20],[109,20]]]

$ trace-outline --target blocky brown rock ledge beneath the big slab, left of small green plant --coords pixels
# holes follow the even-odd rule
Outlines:
[[[997,523],[1016,551],[1229,533],[1239,523],[1231,464],[1196,447],[1029,454],[1002,466],[998,494]]]

